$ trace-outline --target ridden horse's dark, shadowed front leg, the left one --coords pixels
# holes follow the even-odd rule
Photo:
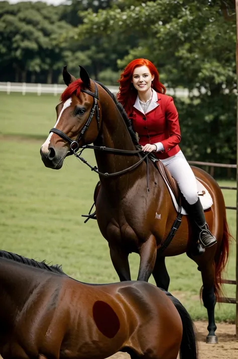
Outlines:
[[[110,257],[115,271],[120,278],[120,281],[131,281],[131,272],[128,256],[129,253],[122,251],[122,249],[109,245]]]

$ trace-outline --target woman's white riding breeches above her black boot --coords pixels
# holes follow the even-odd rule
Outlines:
[[[186,201],[190,205],[196,203],[198,200],[196,178],[183,152],[180,150],[174,156],[161,159],[161,162],[168,168],[171,175],[177,181]]]

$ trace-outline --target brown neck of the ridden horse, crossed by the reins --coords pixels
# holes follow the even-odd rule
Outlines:
[[[109,100],[107,99],[107,103],[105,105],[103,105],[103,103],[101,104],[101,112],[101,133],[94,144],[129,151],[135,150],[136,147],[132,141],[122,115],[110,98]],[[100,172],[108,173],[128,168],[140,159],[138,155],[118,155],[101,151],[95,151],[95,157],[98,170]]]

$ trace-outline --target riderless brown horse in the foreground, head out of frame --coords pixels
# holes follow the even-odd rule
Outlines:
[[[169,293],[146,282],[81,283],[58,266],[5,251],[0,257],[4,359],[103,359],[117,351],[197,359],[191,318]]]

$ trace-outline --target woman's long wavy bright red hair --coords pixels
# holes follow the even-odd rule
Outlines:
[[[142,58],[131,61],[122,72],[120,80],[118,80],[118,82],[120,82],[120,86],[119,92],[116,95],[118,102],[123,105],[127,114],[132,112],[132,107],[135,104],[138,95],[138,92],[132,83],[133,72],[136,67],[144,65],[147,66],[150,70],[150,73],[155,76],[152,82],[152,87],[154,90],[160,94],[166,93],[165,86],[159,80],[159,72],[151,61]]]

